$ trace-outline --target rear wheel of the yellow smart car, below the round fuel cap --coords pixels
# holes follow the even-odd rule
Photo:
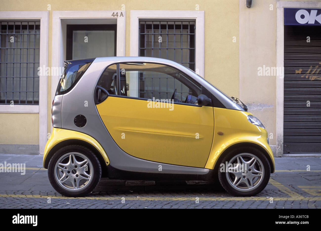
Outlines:
[[[82,197],[98,185],[101,166],[90,149],[81,145],[68,145],[51,157],[48,177],[58,193],[67,197]]]

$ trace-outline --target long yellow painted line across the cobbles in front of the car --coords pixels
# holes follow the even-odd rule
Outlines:
[[[0,197],[7,198],[44,198],[44,199],[96,199],[96,200],[122,200],[122,197],[64,197],[64,196],[46,196],[46,195],[14,195],[14,194],[0,194]],[[195,197],[126,197],[126,200],[196,200]],[[270,197],[198,197],[199,200],[206,201],[242,201],[242,200],[266,200],[269,201]],[[276,197],[273,200],[321,200],[321,197],[302,197],[302,198],[291,198],[291,197]]]

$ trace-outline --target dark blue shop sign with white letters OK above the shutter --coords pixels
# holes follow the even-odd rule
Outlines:
[[[284,25],[321,25],[321,9],[284,8]]]

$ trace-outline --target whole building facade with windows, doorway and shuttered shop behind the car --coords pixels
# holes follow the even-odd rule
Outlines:
[[[64,60],[151,56],[240,98],[275,156],[320,154],[320,15],[312,0],[1,0],[0,153],[43,154]]]

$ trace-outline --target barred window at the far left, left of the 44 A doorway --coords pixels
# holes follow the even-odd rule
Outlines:
[[[0,104],[39,105],[39,21],[0,21]]]

